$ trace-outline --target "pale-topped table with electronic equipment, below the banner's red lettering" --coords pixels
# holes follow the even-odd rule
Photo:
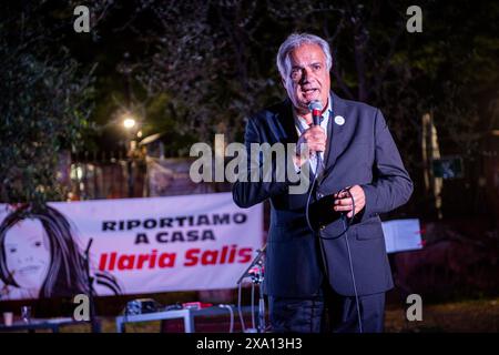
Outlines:
[[[238,320],[237,307],[232,307],[234,311],[234,322]],[[244,313],[251,312],[251,306],[242,307]],[[256,311],[256,310],[255,310]],[[138,315],[122,315],[116,317],[116,332],[124,333],[126,323],[139,323],[139,322],[152,322],[152,321],[164,321],[164,320],[184,320],[184,332],[194,333],[194,317],[196,316],[210,316],[210,315],[226,315],[228,314],[227,308],[222,308],[218,306],[207,307],[207,308],[186,308],[186,310],[174,310],[174,311],[163,311],[144,313]]]

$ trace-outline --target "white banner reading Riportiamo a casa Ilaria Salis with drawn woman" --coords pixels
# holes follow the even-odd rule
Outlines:
[[[0,300],[234,288],[263,243],[263,205],[231,193],[0,205]]]

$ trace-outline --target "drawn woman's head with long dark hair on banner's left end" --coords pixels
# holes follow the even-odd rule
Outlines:
[[[93,275],[92,291],[122,294],[110,273]],[[0,300],[89,294],[85,263],[69,220],[52,206],[20,205],[0,224]]]

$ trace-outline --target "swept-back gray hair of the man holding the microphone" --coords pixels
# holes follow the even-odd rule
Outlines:
[[[330,55],[329,44],[325,40],[310,33],[292,33],[283,42],[283,44],[281,44],[277,52],[277,68],[282,78],[286,78],[291,69],[289,53],[302,44],[317,44],[320,47],[326,55],[327,71],[330,70],[330,67],[333,65],[333,58]]]

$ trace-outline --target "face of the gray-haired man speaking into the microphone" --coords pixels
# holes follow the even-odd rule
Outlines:
[[[291,72],[283,78],[287,95],[298,112],[307,113],[310,101],[319,100],[325,108],[330,79],[326,55],[317,44],[302,44],[289,53]]]

